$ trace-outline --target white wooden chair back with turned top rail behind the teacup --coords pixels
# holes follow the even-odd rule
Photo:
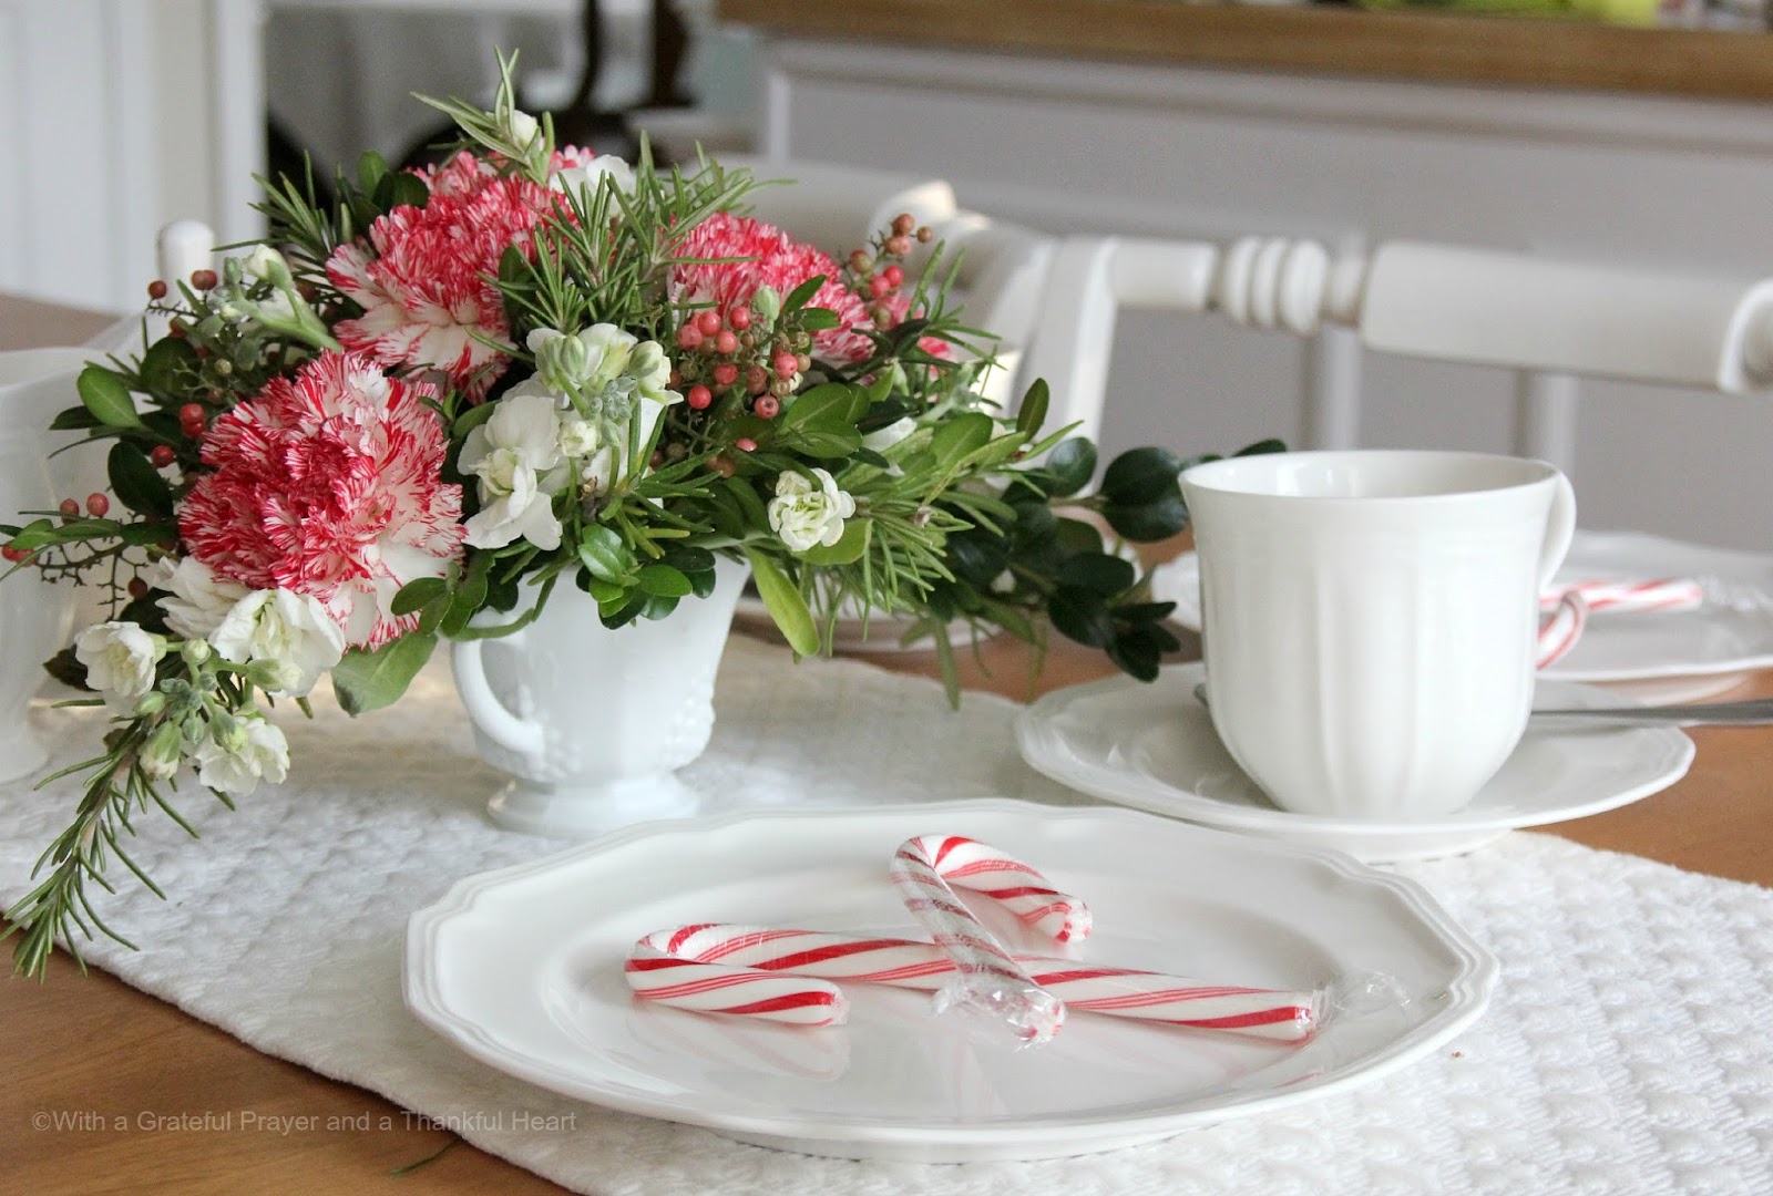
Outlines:
[[[1521,452],[1571,466],[1576,377],[1723,393],[1773,390],[1773,282],[1392,241],[1332,255],[1314,241],[1078,236],[1053,252],[1025,377],[1051,422],[1101,431],[1122,308],[1216,312],[1317,338],[1319,447],[1355,443],[1360,347],[1518,372]]]

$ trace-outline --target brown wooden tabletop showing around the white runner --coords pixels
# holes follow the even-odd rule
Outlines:
[[[0,296],[0,349],[76,342],[108,321]],[[878,657],[929,673],[933,657]],[[989,670],[986,675],[984,670]],[[968,661],[968,686],[1012,698],[1112,672],[1060,645],[1030,686],[1018,643]],[[1773,673],[1734,695],[1773,695]],[[941,709],[931,718],[940,719]],[[1672,788],[1551,833],[1755,884],[1773,884],[1773,728],[1699,728],[1699,758]],[[193,847],[200,850],[200,847]],[[0,1189],[30,1196],[105,1192],[558,1192],[465,1143],[418,1171],[392,1171],[450,1146],[452,1136],[399,1106],[259,1054],[103,973],[57,959],[46,983],[0,982]],[[229,1127],[218,1127],[232,1113]],[[259,1129],[248,1129],[243,1113]],[[206,1123],[206,1114],[209,1122]],[[367,1114],[367,1116],[365,1116]],[[273,1118],[305,1118],[278,1134]],[[340,1129],[328,1129],[328,1123]],[[348,1123],[371,1129],[344,1129]]]

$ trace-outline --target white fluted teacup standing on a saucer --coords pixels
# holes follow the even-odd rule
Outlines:
[[[1183,473],[1207,703],[1296,813],[1420,819],[1502,767],[1576,500],[1543,461],[1296,452]]]

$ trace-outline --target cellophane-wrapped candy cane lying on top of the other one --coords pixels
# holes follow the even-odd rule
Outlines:
[[[954,859],[956,852],[968,847],[982,845],[954,835],[918,835],[899,843],[886,868],[904,907],[924,923],[954,964],[954,973],[936,989],[936,1013],[950,1008],[973,1010],[1004,1022],[1023,1045],[1050,1042],[1066,1024],[1064,1001],[1037,985],[949,888],[945,865],[961,874],[957,881],[975,879],[986,870],[966,868]],[[991,852],[984,849],[980,854],[988,858]],[[1007,856],[1002,863],[1004,868],[989,870],[1025,870],[1039,877]],[[1044,884],[1044,877],[1039,879]],[[1044,902],[1046,895],[1062,897],[1046,889],[1039,900]],[[1035,916],[1048,925],[1051,921]]]

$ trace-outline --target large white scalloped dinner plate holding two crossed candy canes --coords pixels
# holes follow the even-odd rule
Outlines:
[[[629,994],[635,939],[690,921],[927,937],[886,863],[931,833],[1083,897],[1082,959],[1346,999],[1303,1045],[1074,1013],[1018,1051],[876,985],[823,1029]],[[408,1006],[504,1072],[757,1145],[922,1162],[1113,1150],[1371,1083],[1477,1019],[1496,971],[1425,889],[1344,854],[1014,801],[644,824],[463,881],[406,939]]]

